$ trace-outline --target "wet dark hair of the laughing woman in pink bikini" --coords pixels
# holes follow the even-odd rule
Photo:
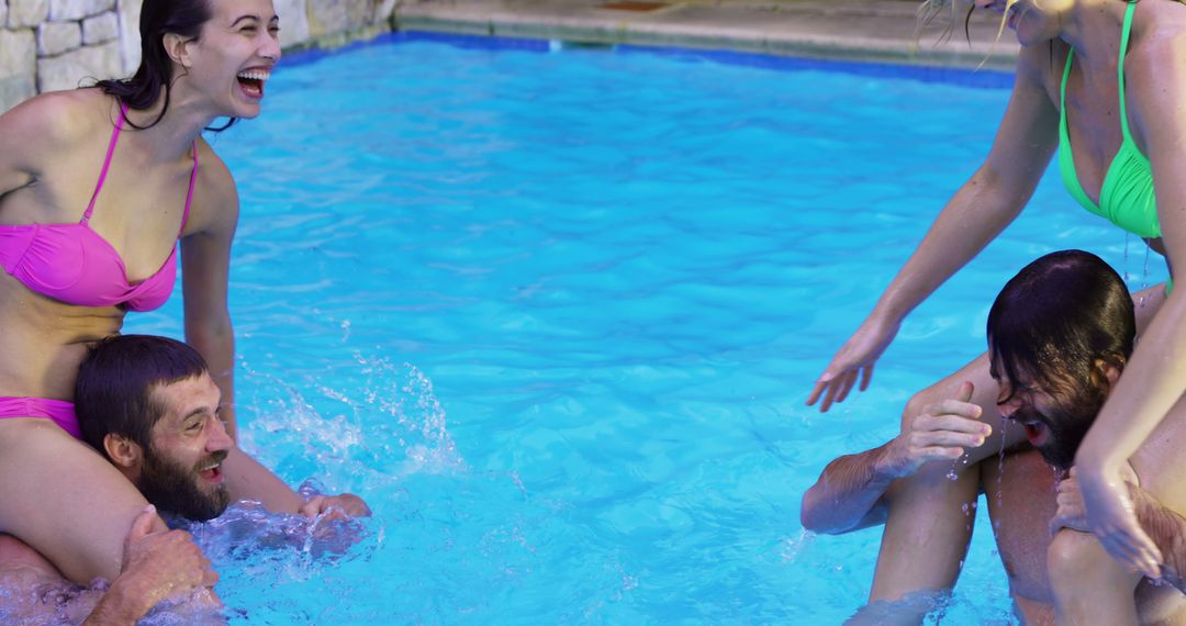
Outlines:
[[[140,68],[132,78],[100,81],[95,87],[104,94],[115,96],[121,104],[130,109],[144,110],[152,107],[161,91],[165,92],[165,106],[160,115],[148,126],[136,126],[123,115],[123,121],[133,128],[144,130],[160,123],[168,111],[170,92],[173,88],[173,59],[165,52],[165,36],[179,34],[187,40],[197,40],[202,34],[202,25],[210,21],[210,0],[145,0],[140,8]],[[230,128],[235,119],[221,128],[208,130],[221,132]]]

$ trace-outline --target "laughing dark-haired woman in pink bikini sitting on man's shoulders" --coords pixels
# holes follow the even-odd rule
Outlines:
[[[146,505],[77,439],[77,368],[128,311],[168,299],[178,241],[186,340],[209,362],[235,434],[227,276],[238,196],[200,134],[216,117],[260,114],[278,31],[270,0],[146,0],[133,78],[0,116],[0,531],[75,582],[115,579]],[[232,498],[275,512],[365,512],[349,494],[306,503],[237,448],[218,473]]]

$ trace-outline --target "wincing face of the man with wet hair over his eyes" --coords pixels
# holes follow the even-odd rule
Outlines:
[[[1014,383],[995,371],[993,377],[1001,390],[1001,415],[1025,428],[1026,439],[1046,462],[1059,470],[1075,465],[1075,453],[1103,408],[1107,389],[1079,387],[1054,394],[1039,383]]]

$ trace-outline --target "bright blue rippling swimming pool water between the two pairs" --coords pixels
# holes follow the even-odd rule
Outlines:
[[[839,624],[879,532],[804,532],[824,464],[978,353],[1039,254],[1165,274],[1047,177],[820,415],[812,381],[983,156],[1007,81],[490,44],[298,58],[215,141],[243,204],[243,445],[375,510],[344,551],[199,530],[235,622]],[[179,336],[179,300],[128,331]],[[952,622],[1010,622],[987,529]]]

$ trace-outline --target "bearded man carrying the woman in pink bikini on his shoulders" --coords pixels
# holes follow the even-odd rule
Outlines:
[[[151,506],[133,524],[123,570],[106,594],[71,589],[42,555],[0,535],[0,587],[15,600],[6,600],[0,617],[133,624],[166,599],[195,602],[185,609],[217,606],[210,589],[218,576],[192,537],[180,530],[151,532],[157,510],[200,522],[222,515],[231,500],[221,466],[235,443],[218,419],[221,392],[202,356],[162,337],[110,337],[90,349],[75,391],[83,439]],[[331,518],[370,515],[351,494],[317,497],[308,506],[336,506],[326,513]]]

